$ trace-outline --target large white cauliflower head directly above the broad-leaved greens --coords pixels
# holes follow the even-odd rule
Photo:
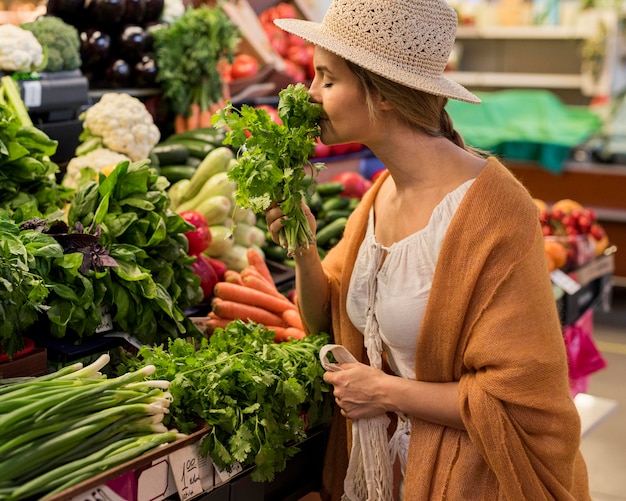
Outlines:
[[[82,139],[96,136],[102,145],[138,161],[148,158],[150,150],[161,139],[146,106],[126,93],[107,92],[82,114]]]

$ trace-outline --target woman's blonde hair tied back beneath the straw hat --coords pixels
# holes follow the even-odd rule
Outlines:
[[[457,146],[478,156],[486,152],[467,146],[454,128],[452,118],[446,111],[448,98],[436,96],[393,82],[346,60],[350,70],[359,79],[365,93],[365,103],[370,116],[377,116],[374,95],[383,98],[398,114],[398,118],[411,128],[432,137],[445,137]]]

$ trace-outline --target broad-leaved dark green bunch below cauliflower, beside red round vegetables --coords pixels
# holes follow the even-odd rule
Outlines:
[[[148,160],[121,162],[82,184],[68,214],[70,226],[101,228],[117,263],[99,279],[103,301],[115,328],[145,344],[202,336],[184,313],[203,297],[184,236],[193,226],[170,209],[168,186]]]

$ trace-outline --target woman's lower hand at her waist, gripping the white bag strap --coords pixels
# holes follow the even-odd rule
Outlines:
[[[342,364],[341,368],[325,372],[324,381],[334,386],[335,402],[345,417],[370,418],[390,410],[383,388],[385,380],[394,376],[361,363]]]

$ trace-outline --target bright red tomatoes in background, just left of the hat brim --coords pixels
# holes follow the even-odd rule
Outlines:
[[[304,83],[315,76],[313,66],[313,44],[299,36],[281,30],[274,24],[274,19],[295,18],[293,5],[281,2],[265,9],[259,14],[259,21],[274,50],[283,58],[285,71],[294,83]]]

